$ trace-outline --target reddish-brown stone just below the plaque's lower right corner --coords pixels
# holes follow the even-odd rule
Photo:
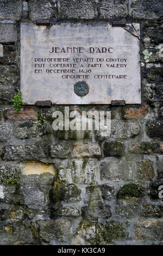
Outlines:
[[[123,112],[124,119],[135,119],[144,117],[148,112],[148,106],[141,106],[139,108],[126,108]]]

